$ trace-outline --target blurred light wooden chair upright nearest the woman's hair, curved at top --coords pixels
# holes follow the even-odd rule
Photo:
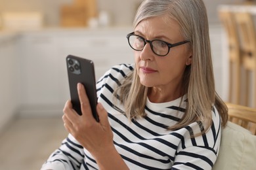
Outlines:
[[[228,102],[240,103],[240,44],[234,14],[229,10],[220,9],[219,18],[223,24],[228,40],[229,61],[229,97]]]

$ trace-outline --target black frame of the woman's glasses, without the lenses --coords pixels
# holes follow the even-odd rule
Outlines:
[[[127,38],[127,40],[128,40],[129,46],[131,46],[130,41],[129,41],[131,35],[136,35],[136,34],[135,34],[135,32],[132,32],[132,33],[127,34],[126,38]],[[190,42],[190,41],[181,41],[181,42],[177,42],[177,43],[175,43],[175,44],[171,44],[171,43],[169,43],[169,42],[162,41],[162,40],[160,40],[160,39],[154,39],[154,40],[151,40],[151,41],[150,41],[150,40],[144,39],[144,37],[141,37],[140,35],[136,35],[136,36],[140,37],[140,38],[144,41],[144,46],[146,45],[146,42],[148,42],[148,43],[150,44],[150,48],[151,48],[152,52],[154,52],[154,48],[153,48],[152,42],[154,42],[154,41],[161,41],[161,42],[166,43],[167,46],[168,46],[168,52],[167,52],[167,54],[169,54],[170,48],[173,48],[173,47],[175,47],[175,46],[179,46],[179,45],[186,44],[186,43]],[[141,50],[137,50],[137,49],[133,48],[133,46],[131,46],[131,48],[133,48],[133,50],[136,50],[136,51],[142,51],[142,50],[144,49],[144,46],[143,46],[143,48],[142,48]],[[154,54],[156,54],[156,52],[154,52]],[[163,56],[166,56],[167,54],[165,54],[165,55],[156,54],[156,55],[163,57]]]

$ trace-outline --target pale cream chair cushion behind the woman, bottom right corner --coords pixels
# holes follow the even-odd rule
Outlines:
[[[256,167],[256,136],[229,122],[221,132],[221,145],[213,170],[253,170]]]

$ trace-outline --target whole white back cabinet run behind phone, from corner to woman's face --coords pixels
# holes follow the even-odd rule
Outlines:
[[[119,63],[132,63],[127,29],[61,30],[23,33],[19,40],[22,84],[21,112],[62,112],[70,98],[66,56],[95,62],[96,79]],[[51,110],[53,109],[53,110]]]

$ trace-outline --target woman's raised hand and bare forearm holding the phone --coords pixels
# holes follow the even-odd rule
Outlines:
[[[101,103],[98,103],[96,111],[100,121],[96,122],[82,84],[77,84],[77,91],[82,115],[79,116],[72,109],[71,101],[67,101],[62,116],[65,128],[92,154],[101,170],[129,169],[114,146],[108,113]]]

